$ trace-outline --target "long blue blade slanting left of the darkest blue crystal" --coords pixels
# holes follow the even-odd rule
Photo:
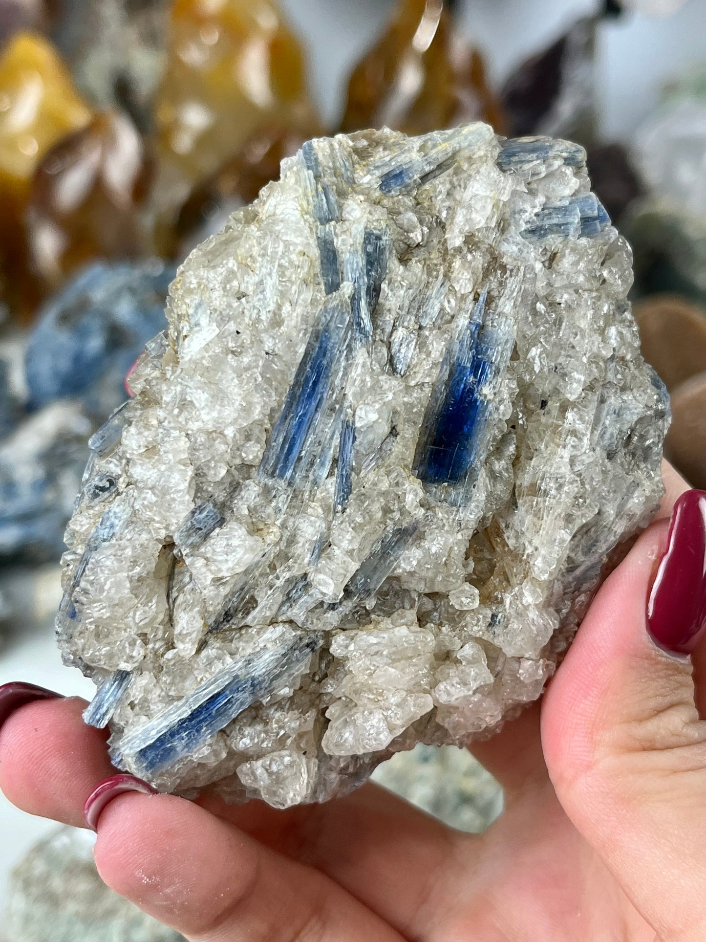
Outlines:
[[[265,448],[261,472],[291,480],[297,461],[329,399],[334,365],[345,356],[350,305],[336,297],[316,319],[280,418]]]

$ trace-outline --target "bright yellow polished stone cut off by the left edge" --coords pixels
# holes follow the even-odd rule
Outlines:
[[[23,230],[32,179],[50,148],[90,119],[90,108],[51,43],[39,34],[17,34],[0,57],[0,258],[9,306],[21,317],[29,316],[39,299]]]

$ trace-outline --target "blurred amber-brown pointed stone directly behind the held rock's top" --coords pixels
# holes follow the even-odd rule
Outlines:
[[[400,0],[350,77],[342,129],[425,134],[478,119],[505,128],[480,53],[457,33],[443,0]]]

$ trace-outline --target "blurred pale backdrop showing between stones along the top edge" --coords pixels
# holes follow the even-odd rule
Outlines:
[[[312,59],[326,118],[340,107],[345,78],[378,35],[396,0],[282,0]],[[507,72],[599,0],[459,0],[466,33],[488,53],[492,78]],[[603,24],[599,43],[602,130],[627,140],[671,75],[706,61],[706,0],[687,0],[666,18],[627,14]]]

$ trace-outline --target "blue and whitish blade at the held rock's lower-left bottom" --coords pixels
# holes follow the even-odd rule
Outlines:
[[[126,763],[137,774],[151,776],[193,754],[244,709],[304,670],[320,644],[320,635],[298,634],[229,665],[125,737],[120,751]]]

